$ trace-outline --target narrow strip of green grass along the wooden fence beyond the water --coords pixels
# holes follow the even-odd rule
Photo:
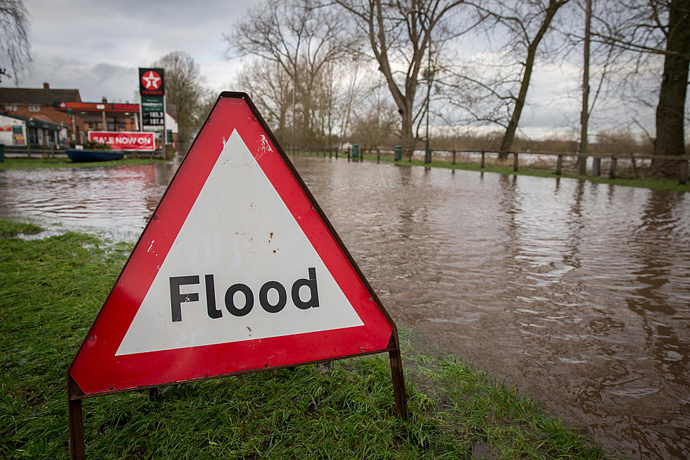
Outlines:
[[[297,155],[300,156],[317,156],[317,157],[322,157],[323,154],[317,154],[317,153],[312,153],[312,152],[298,152],[296,153]],[[326,154],[328,157],[328,154]],[[343,156],[343,154],[339,155],[339,160],[344,159],[347,161],[346,156]],[[494,162],[487,162],[484,165],[484,168],[480,168],[479,163],[474,163],[474,162],[462,162],[458,161],[456,164],[452,164],[448,161],[432,161],[432,163],[427,163],[425,164],[424,161],[421,160],[413,160],[413,161],[408,161],[406,158],[404,158],[401,161],[394,161],[392,156],[380,156],[380,162],[381,163],[394,163],[399,166],[425,166],[427,168],[446,168],[446,169],[460,169],[460,170],[470,170],[470,171],[481,171],[484,173],[498,173],[498,174],[507,174],[507,175],[532,175],[536,176],[539,178],[552,178],[556,179],[558,176],[556,175],[556,170],[555,169],[542,169],[542,168],[534,168],[530,166],[520,166],[519,170],[517,172],[513,171],[513,161],[509,160],[506,161],[505,163],[494,163]],[[376,163],[377,157],[376,155],[365,155],[364,156],[364,163]],[[609,179],[605,176],[584,176],[584,175],[577,175],[576,173],[573,173],[572,171],[567,171],[564,170],[563,174],[560,175],[561,178],[570,178],[570,179],[581,179],[581,180],[589,180],[590,182],[595,182],[597,184],[611,184],[611,185],[624,185],[626,187],[644,187],[648,189],[661,189],[661,190],[672,190],[675,192],[690,192],[690,183],[686,185],[679,185],[678,184],[678,179],[664,179],[664,178],[644,178],[644,179],[629,179],[629,178],[617,178],[617,179]]]

